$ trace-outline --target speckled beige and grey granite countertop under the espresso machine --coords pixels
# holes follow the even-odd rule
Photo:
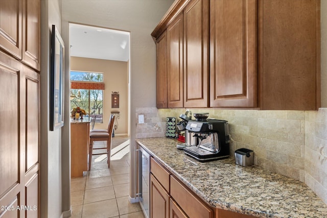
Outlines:
[[[258,217],[327,217],[327,206],[305,184],[234,159],[199,162],[169,138],[136,142],[209,205]]]

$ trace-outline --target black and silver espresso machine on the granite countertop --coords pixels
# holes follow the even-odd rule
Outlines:
[[[207,119],[208,113],[194,114],[196,120],[189,120],[186,130],[193,132],[197,146],[185,147],[184,153],[205,162],[229,157],[228,122]]]

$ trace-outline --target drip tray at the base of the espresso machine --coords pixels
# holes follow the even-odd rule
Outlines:
[[[221,156],[219,153],[213,153],[197,146],[184,148],[184,153],[197,159],[198,161],[205,162],[211,160],[218,160],[229,157],[229,155]]]

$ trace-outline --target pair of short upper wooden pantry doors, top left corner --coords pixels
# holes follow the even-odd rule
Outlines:
[[[2,0],[0,47],[40,70],[40,0]]]

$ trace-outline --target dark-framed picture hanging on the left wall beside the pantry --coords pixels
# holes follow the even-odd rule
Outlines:
[[[64,43],[55,25],[51,36],[50,130],[64,125]]]

